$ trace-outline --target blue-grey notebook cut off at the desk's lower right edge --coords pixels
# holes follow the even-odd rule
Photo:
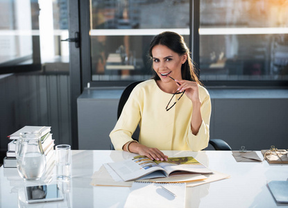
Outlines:
[[[278,203],[288,203],[288,181],[272,180],[267,185]]]

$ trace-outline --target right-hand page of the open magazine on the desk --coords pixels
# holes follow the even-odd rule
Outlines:
[[[212,173],[212,171],[198,162],[194,157],[169,157],[168,161],[154,161],[164,168],[169,176],[180,175],[176,171],[185,171],[189,173]],[[173,172],[176,172],[175,174]]]

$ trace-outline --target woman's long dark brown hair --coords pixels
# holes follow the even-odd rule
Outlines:
[[[195,72],[194,64],[192,63],[192,59],[190,57],[189,49],[187,48],[183,36],[179,35],[178,33],[174,32],[163,32],[159,35],[156,35],[151,44],[149,49],[150,58],[152,58],[152,49],[156,45],[164,45],[167,46],[172,51],[178,53],[178,55],[187,54],[187,60],[181,66],[181,74],[183,80],[190,80],[198,83],[201,85],[201,82],[198,80],[198,77]],[[160,80],[160,77],[157,73],[153,70],[153,79]]]

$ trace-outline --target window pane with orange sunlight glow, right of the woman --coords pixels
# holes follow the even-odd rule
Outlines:
[[[288,2],[201,0],[201,80],[288,80]]]

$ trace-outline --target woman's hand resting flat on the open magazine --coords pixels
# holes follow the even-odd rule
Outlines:
[[[124,150],[126,150],[126,145],[124,145]],[[147,146],[144,146],[142,144],[138,144],[137,142],[132,142],[128,146],[131,153],[137,153],[139,155],[144,155],[146,157],[149,157],[152,160],[158,160],[158,161],[167,161],[168,156],[164,155],[158,148],[149,148]]]

